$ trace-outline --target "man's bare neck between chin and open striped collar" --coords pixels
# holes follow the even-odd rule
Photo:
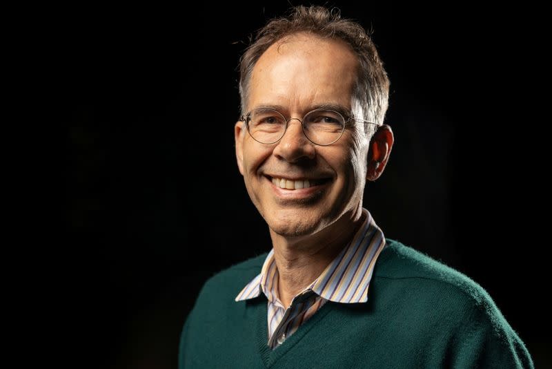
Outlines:
[[[286,237],[270,231],[278,268],[278,297],[288,308],[342,251],[364,223],[362,213],[344,216],[316,234]]]

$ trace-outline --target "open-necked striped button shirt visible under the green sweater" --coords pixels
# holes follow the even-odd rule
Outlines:
[[[277,348],[302,323],[327,301],[364,303],[377,256],[385,247],[385,238],[371,214],[362,209],[365,221],[351,243],[324,269],[316,280],[297,294],[286,309],[278,298],[278,269],[274,249],[266,256],[261,274],[253,278],[235,301],[253,299],[264,293],[268,299],[268,346]]]

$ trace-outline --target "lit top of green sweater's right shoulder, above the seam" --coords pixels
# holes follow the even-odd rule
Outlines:
[[[416,280],[417,285],[439,285],[442,290],[464,296],[486,309],[494,305],[491,296],[477,282],[462,272],[396,240],[387,239],[386,248],[375,268],[375,278]]]

